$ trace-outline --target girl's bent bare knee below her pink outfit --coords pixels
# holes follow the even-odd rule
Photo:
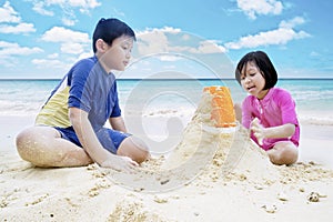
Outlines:
[[[289,165],[297,161],[299,150],[294,143],[281,141],[275,143],[273,149],[268,150],[268,154],[272,163],[278,165]]]

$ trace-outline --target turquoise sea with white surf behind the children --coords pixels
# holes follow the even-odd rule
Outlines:
[[[36,114],[59,80],[0,80],[0,115]],[[122,109],[133,104],[149,113],[190,113],[202,89],[226,85],[234,102],[246,95],[235,80],[118,80]],[[333,122],[333,79],[282,79],[278,87],[291,92],[303,119]]]

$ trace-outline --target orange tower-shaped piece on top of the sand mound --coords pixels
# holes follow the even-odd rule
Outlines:
[[[204,92],[209,92],[212,98],[211,120],[216,128],[235,127],[235,113],[231,93],[226,87],[205,87]]]

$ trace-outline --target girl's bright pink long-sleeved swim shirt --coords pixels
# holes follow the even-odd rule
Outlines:
[[[264,139],[263,145],[261,145],[262,149],[270,150],[278,141],[292,141],[299,147],[300,124],[295,102],[286,90],[272,88],[262,100],[254,95],[246,97],[242,104],[242,124],[250,129],[250,123],[254,118],[258,118],[264,128],[286,123],[292,123],[296,127],[295,133],[291,138]],[[253,132],[251,132],[251,139],[259,144]]]

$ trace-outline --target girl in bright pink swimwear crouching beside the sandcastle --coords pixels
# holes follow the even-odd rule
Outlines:
[[[242,103],[242,124],[274,164],[297,160],[300,124],[291,94],[274,87],[278,73],[266,53],[245,54],[238,63],[235,78],[250,94]]]

